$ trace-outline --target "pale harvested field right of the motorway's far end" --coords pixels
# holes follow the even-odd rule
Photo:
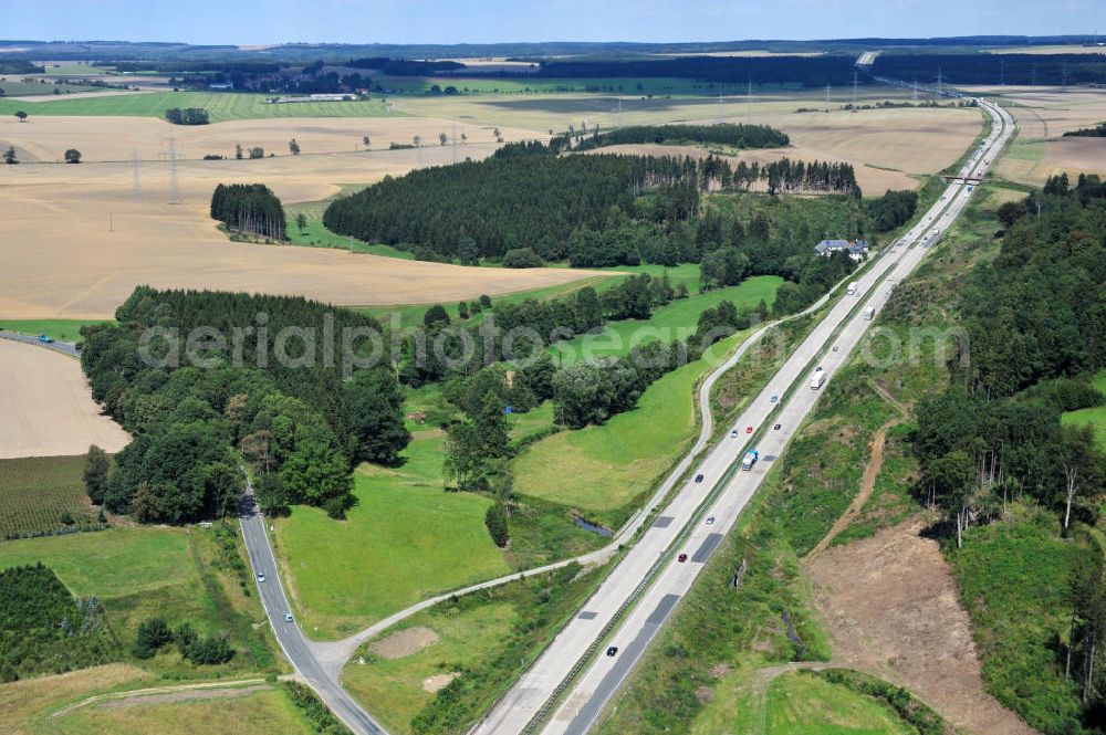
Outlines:
[[[1106,176],[1103,138],[1065,138],[1064,133],[1106,120],[1106,90],[1089,87],[967,87],[998,98],[1014,115],[1018,136],[999,159],[1000,177],[1040,186],[1067,172]]]

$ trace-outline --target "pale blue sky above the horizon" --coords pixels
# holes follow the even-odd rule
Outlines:
[[[4,4],[0,36],[46,41],[484,43],[1106,32],[1104,0],[13,0]]]

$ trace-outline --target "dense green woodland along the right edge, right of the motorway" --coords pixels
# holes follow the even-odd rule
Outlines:
[[[1012,497],[1055,508],[1065,532],[1094,521],[1106,482],[1091,430],[1060,421],[1104,402],[1087,378],[1106,367],[1106,302],[1094,296],[1106,285],[1106,190],[1056,177],[999,214],[998,256],[960,287],[968,339],[949,359],[951,385],[919,403],[912,438],[921,492],[958,543]]]

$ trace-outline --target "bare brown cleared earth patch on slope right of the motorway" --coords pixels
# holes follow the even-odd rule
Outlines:
[[[1034,733],[984,691],[968,613],[925,525],[914,517],[804,560],[834,660],[906,686],[975,735]]]

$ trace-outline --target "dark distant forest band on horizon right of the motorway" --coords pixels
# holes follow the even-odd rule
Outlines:
[[[1103,84],[1106,54],[879,54],[874,73],[930,84]]]

